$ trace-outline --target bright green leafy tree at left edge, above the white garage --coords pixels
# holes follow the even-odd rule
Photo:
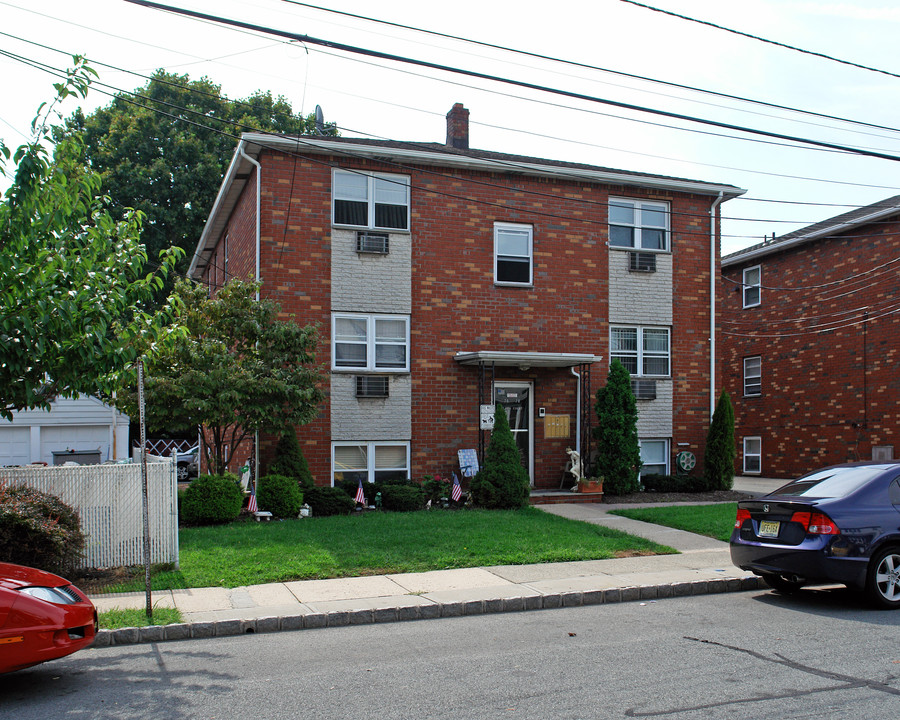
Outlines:
[[[159,271],[147,274],[141,213],[112,210],[100,176],[84,165],[81,137],[54,133],[59,103],[84,98],[96,75],[74,60],[32,123],[33,140],[14,153],[0,142],[0,174],[10,159],[16,166],[0,198],[0,417],[7,419],[49,408],[58,395],[111,392],[137,345],[159,341],[168,321],[149,308],[176,253],[163,254]]]

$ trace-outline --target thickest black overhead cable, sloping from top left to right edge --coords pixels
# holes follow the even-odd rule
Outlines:
[[[126,2],[132,3],[133,5],[140,5],[142,7],[151,8],[154,10],[162,10],[166,12],[175,13],[178,15],[184,15],[186,17],[193,17],[198,20],[206,20],[211,22],[218,22],[223,25],[230,25],[233,27],[243,28],[246,30],[253,30],[256,32],[260,32],[267,35],[274,35],[276,37],[284,37],[290,38],[292,40],[296,40],[302,43],[308,43],[310,45],[320,45],[324,47],[331,48],[333,50],[339,50],[343,52],[348,52],[356,55],[365,55],[367,57],[379,58],[381,60],[389,60],[393,62],[405,63],[408,65],[416,65],[419,67],[427,67],[432,70],[439,70],[441,72],[454,73],[457,75],[466,75],[468,77],[479,78],[481,80],[487,80],[489,82],[497,82],[506,85],[514,85],[516,87],[527,88],[529,90],[535,90],[537,92],[550,93],[553,95],[561,95],[564,97],[570,97],[577,100],[584,100],[586,102],[599,103],[602,105],[609,105],[611,107],[621,108],[623,110],[632,110],[635,112],[641,113],[649,113],[652,115],[658,115],[662,117],[674,118],[677,120],[684,120],[686,122],[691,123],[699,123],[702,125],[709,125],[712,127],[724,128],[727,130],[737,130],[739,132],[745,132],[751,135],[760,135],[763,137],[771,137],[779,140],[788,140],[791,142],[796,142],[801,145],[813,145],[816,147],[829,148],[832,150],[840,150],[846,153],[850,153],[852,155],[863,155],[866,157],[875,157],[880,158],[882,160],[893,160],[900,161],[900,156],[890,155],[887,153],[875,152],[872,150],[864,150],[860,148],[854,148],[846,145],[840,145],[837,143],[829,143],[821,140],[813,140],[810,138],[798,137],[795,135],[787,135],[783,133],[771,132],[768,130],[759,130],[756,128],[745,127],[742,125],[734,125],[732,123],[723,123],[716,120],[709,120],[706,118],[700,118],[693,115],[685,115],[682,113],[674,113],[666,110],[659,110],[656,108],[650,108],[643,105],[635,105],[632,103],[620,102],[618,100],[610,100],[608,98],[601,98],[594,95],[586,95],[584,93],[577,93],[570,90],[562,90],[560,88],[552,88],[546,85],[538,85],[536,83],[525,82],[523,80],[513,80],[512,78],[504,78],[498,75],[491,75],[489,73],[477,72],[475,70],[465,70],[463,68],[457,68],[450,65],[442,65],[440,63],[430,62],[428,60],[419,60],[416,58],[410,58],[403,55],[394,55],[392,53],[385,53],[378,50],[371,50],[369,48],[363,48],[356,45],[347,45],[345,43],[338,43],[332,40],[326,40],[323,38],[315,38],[310,35],[303,35],[301,33],[292,33],[285,30],[277,30],[275,28],[265,27],[263,25],[256,25],[254,23],[247,23],[241,20],[232,20],[229,18],[224,18],[217,15],[210,15],[208,13],[201,13],[195,10],[188,10],[185,8],[178,8],[172,5],[164,5],[161,3],[150,2],[149,0],[126,0]]]

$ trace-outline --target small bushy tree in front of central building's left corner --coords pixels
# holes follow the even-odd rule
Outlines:
[[[209,297],[179,280],[173,293],[185,328],[173,342],[148,348],[147,425],[151,430],[206,430],[204,458],[222,474],[240,443],[257,430],[293,431],[312,420],[324,395],[313,366],[317,332],[280,307],[255,300],[255,282],[232,280]],[[117,404],[134,413],[137,392],[123,387]]]

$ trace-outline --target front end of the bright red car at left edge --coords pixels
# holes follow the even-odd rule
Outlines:
[[[0,562],[0,673],[69,655],[96,635],[93,603],[68,580]]]

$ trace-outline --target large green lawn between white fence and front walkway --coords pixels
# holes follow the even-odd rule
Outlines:
[[[643,538],[535,508],[371,512],[182,528],[181,569],[154,573],[153,588],[239,587],[674,552]],[[141,589],[143,574],[107,591]]]

